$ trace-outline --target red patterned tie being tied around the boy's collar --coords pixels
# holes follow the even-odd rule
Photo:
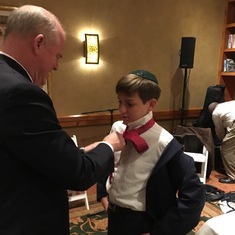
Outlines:
[[[150,129],[154,125],[154,123],[155,121],[152,118],[145,125],[137,129],[128,130],[127,127],[125,132],[123,133],[123,137],[125,140],[130,140],[133,143],[138,153],[142,153],[146,151],[149,147],[146,141],[142,137],[140,137],[140,135]]]

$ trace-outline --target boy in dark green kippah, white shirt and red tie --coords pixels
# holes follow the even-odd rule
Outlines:
[[[127,128],[126,146],[107,189],[109,235],[183,235],[199,222],[204,187],[193,159],[153,119],[160,92],[155,75],[144,70],[116,85]]]

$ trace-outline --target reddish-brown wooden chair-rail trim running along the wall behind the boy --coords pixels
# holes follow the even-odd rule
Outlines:
[[[185,111],[186,119],[196,119],[199,117],[201,109],[190,109]],[[171,121],[178,120],[181,117],[180,111],[155,111],[154,119],[156,121]],[[112,119],[112,120],[111,120]],[[58,117],[59,123],[63,128],[68,127],[84,127],[84,126],[97,126],[109,125],[111,121],[115,122],[120,120],[119,113],[111,114],[109,112],[96,113],[96,114],[81,114],[81,115],[68,115]]]

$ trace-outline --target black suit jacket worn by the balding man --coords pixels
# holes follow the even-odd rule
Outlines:
[[[88,189],[113,167],[107,144],[80,153],[46,92],[0,54],[0,234],[68,235],[67,189]]]

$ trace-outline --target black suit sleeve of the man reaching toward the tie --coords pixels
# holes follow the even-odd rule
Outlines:
[[[58,123],[50,97],[30,82],[6,89],[0,105],[5,157],[9,155],[61,187],[85,190],[114,168],[104,143],[82,154]]]

